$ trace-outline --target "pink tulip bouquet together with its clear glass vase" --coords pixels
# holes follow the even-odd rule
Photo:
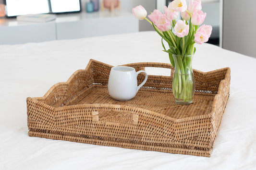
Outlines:
[[[212,26],[201,25],[206,13],[201,11],[201,0],[173,0],[169,6],[164,6],[164,13],[154,10],[148,18],[147,12],[141,6],[133,8],[134,16],[139,20],[146,20],[153,25],[162,37],[163,51],[169,54],[170,62],[175,68],[172,80],[172,91],[176,103],[189,104],[195,93],[192,56],[195,54],[195,43],[203,44],[208,41]],[[182,19],[177,20],[181,13]],[[169,45],[166,49],[163,40]]]

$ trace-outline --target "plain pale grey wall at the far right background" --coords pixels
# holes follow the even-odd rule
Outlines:
[[[256,57],[256,0],[223,0],[223,48]]]

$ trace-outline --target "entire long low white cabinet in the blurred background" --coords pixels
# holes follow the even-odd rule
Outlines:
[[[47,23],[18,22],[0,19],[0,45],[75,39],[139,31],[138,20],[131,12],[59,14]]]

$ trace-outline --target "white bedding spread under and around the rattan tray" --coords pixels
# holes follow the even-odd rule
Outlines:
[[[231,68],[231,90],[210,158],[29,137],[26,97],[43,96],[90,58],[116,66],[166,62],[155,32],[0,46],[0,170],[249,170],[256,168],[256,59],[197,45],[193,68]],[[159,69],[161,70],[161,69]],[[158,69],[154,73],[162,74]],[[169,74],[163,71],[163,74]]]

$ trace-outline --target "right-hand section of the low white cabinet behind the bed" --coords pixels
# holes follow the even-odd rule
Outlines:
[[[68,14],[56,19],[57,39],[138,32],[138,24],[138,20],[130,12]]]

